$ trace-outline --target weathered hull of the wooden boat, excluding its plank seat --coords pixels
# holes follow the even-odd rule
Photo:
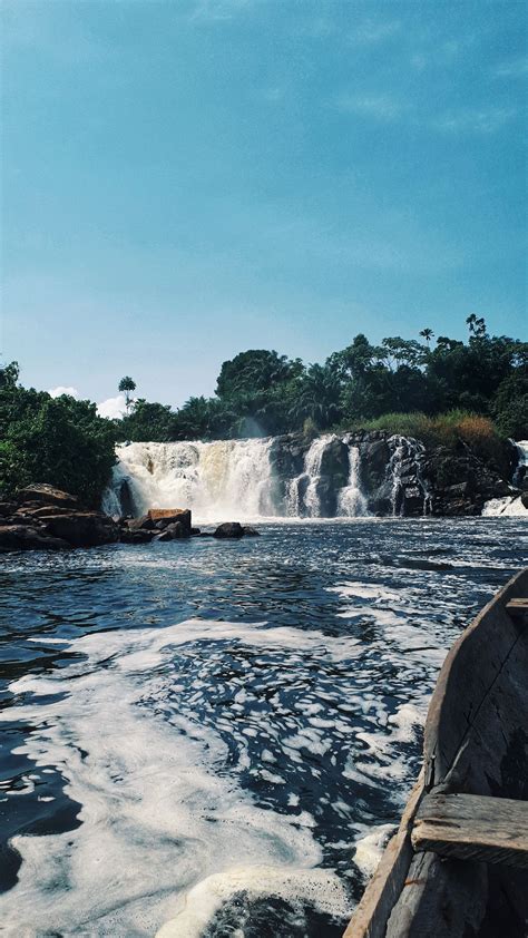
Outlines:
[[[527,596],[525,569],[449,652],[428,712],[424,782],[421,791],[413,791],[414,814],[426,792],[440,784],[444,792],[528,800],[528,617],[507,610],[508,603]],[[477,934],[497,897],[506,902],[511,934],[517,934],[517,922],[528,915],[524,869],[444,859],[432,852],[411,853],[409,860],[410,851],[409,824],[401,825],[346,938],[466,938]]]

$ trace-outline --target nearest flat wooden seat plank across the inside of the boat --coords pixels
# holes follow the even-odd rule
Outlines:
[[[414,850],[528,869],[528,802],[479,794],[426,795],[411,833]]]

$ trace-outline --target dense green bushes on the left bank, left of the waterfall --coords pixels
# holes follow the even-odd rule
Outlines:
[[[13,363],[14,364],[14,363]],[[0,371],[0,495],[49,482],[98,505],[115,462],[115,427],[96,406],[18,385]]]

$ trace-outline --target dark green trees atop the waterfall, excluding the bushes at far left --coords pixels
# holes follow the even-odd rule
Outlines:
[[[468,316],[466,342],[420,332],[423,342],[360,333],[323,364],[264,349],[223,363],[213,398],[178,410],[143,398],[127,407],[121,440],[224,439],[346,430],[389,412],[436,416],[460,409],[491,418],[501,436],[528,437],[528,343],[489,335]],[[124,379],[131,381],[131,379]],[[134,384],[134,382],[133,382]]]

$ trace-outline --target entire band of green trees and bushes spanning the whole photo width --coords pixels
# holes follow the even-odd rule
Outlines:
[[[389,336],[379,345],[360,333],[323,364],[265,349],[241,352],[223,363],[214,397],[192,397],[177,410],[133,399],[136,384],[127,375],[119,383],[126,402],[120,420],[99,417],[90,401],[23,388],[11,362],[0,367],[0,497],[41,481],[96,505],[115,443],[126,440],[307,437],[369,422],[390,429],[398,416],[454,410],[491,419],[502,437],[527,439],[528,343],[489,335],[476,315],[467,325],[465,342],[436,339],[429,328],[420,332],[423,341]]]

